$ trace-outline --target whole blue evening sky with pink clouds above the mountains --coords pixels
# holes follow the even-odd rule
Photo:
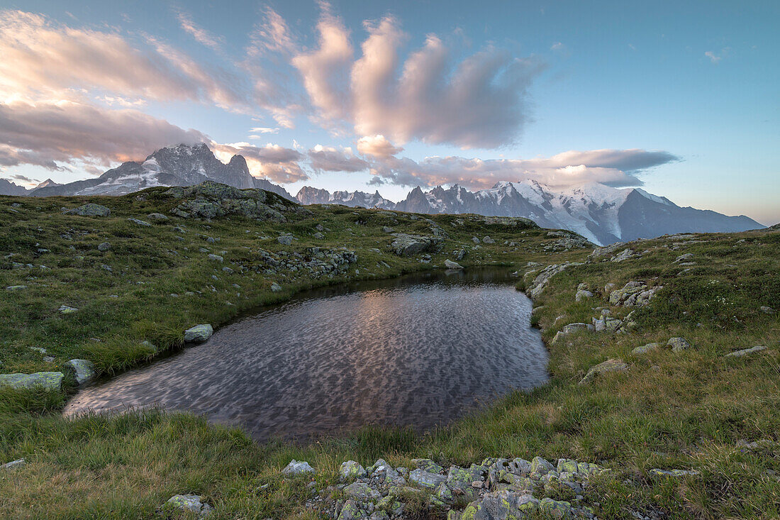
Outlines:
[[[0,177],[179,142],[304,185],[643,187],[780,222],[780,2],[0,0]]]

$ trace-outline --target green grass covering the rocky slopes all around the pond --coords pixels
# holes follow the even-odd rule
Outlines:
[[[393,218],[372,210],[313,206],[310,215],[287,223],[238,217],[172,219],[152,227],[127,222],[153,211],[167,213],[176,203],[163,191],[147,191],[144,200],[135,194],[90,198],[112,208],[108,218],[60,212],[85,198],[0,198],[0,215],[8,223],[0,230],[0,249],[2,256],[15,254],[0,258],[0,286],[28,286],[5,292],[0,302],[2,372],[55,370],[74,357],[94,361],[101,372],[121,372],[180,347],[183,329],[193,324],[219,326],[309,287],[432,269],[465,246],[464,265],[513,265],[521,272],[531,269],[527,262],[584,262],[590,253],[548,252],[544,246],[558,237],[548,237],[546,230],[486,225],[463,215],[430,217],[448,233],[430,264],[393,255],[388,251],[392,237],[381,230],[430,234],[426,215],[413,220],[401,213]],[[22,205],[19,213],[9,212],[13,202]],[[329,230],[323,239],[314,238],[318,223]],[[178,233],[183,241],[175,238],[176,224],[186,226],[187,233]],[[289,247],[278,244],[275,238],[284,232],[299,240]],[[219,240],[207,243],[199,233]],[[471,249],[471,237],[485,235],[495,244]],[[107,240],[111,251],[97,251]],[[618,288],[642,280],[664,289],[651,305],[636,310],[640,327],[630,333],[583,332],[552,344],[548,384],[509,394],[423,435],[372,426],[303,445],[282,440],[259,445],[237,429],[210,426],[192,415],[151,410],[64,419],[58,408],[72,390],[0,390],[0,461],[28,461],[24,468],[0,472],[0,515],[153,518],[173,494],[199,493],[215,505],[217,518],[316,518],[304,505],[307,480],[280,474],[291,458],[314,465],[322,489],[335,483],[340,463],[349,459],[371,465],[381,457],[403,465],[424,457],[467,465],[488,456],[539,454],[614,470],[615,477],[594,479],[587,490],[599,518],[632,518],[631,511],[662,511],[666,518],[778,518],[780,483],[768,472],[780,474],[780,321],[760,308],[780,309],[780,233],[710,234],[685,242],[643,240],[629,244],[644,251],[641,258],[585,263],[555,276],[535,302],[541,308],[533,318],[547,341],[567,323],[589,322],[598,315],[596,308],[608,308],[607,283]],[[198,251],[203,246],[215,254],[228,251],[225,263],[208,261]],[[260,269],[257,248],[303,252],[313,246],[343,246],[359,259],[332,278]],[[38,254],[37,248],[50,251]],[[689,252],[696,265],[683,272],[686,266],[673,261]],[[11,262],[35,267],[12,269]],[[222,272],[225,265],[235,272]],[[521,278],[519,287],[533,276]],[[271,293],[273,282],[283,290]],[[574,301],[579,283],[595,297]],[[186,296],[187,291],[193,294]],[[79,311],[60,315],[60,305]],[[630,310],[613,307],[612,315],[624,317]],[[633,347],[673,336],[686,337],[693,347],[629,354]],[[163,352],[153,354],[141,345],[144,340]],[[756,344],[768,350],[723,357]],[[44,363],[31,346],[46,348],[55,362]],[[587,369],[608,358],[622,358],[628,372],[577,384]],[[745,451],[736,447],[741,439],[772,443]],[[695,468],[701,475],[656,482],[649,478],[651,468]],[[550,496],[567,498],[562,491]]]

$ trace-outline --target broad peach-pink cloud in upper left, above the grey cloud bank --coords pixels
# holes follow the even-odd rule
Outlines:
[[[107,30],[76,29],[29,12],[0,12],[0,102],[69,99],[83,92],[147,101],[246,107],[241,82],[147,37],[144,50]]]

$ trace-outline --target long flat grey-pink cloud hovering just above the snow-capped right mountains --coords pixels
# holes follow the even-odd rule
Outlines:
[[[592,150],[565,151],[550,158],[488,159],[428,157],[415,162],[390,157],[375,162],[371,173],[406,186],[460,184],[473,190],[492,187],[501,180],[536,180],[565,188],[582,183],[613,187],[641,186],[637,173],[679,158],[665,151]]]

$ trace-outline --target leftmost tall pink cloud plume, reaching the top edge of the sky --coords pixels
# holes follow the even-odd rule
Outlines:
[[[347,74],[353,59],[349,31],[333,16],[328,4],[321,4],[317,22],[318,48],[293,57],[293,66],[303,77],[311,103],[324,119],[344,119],[349,114]]]

